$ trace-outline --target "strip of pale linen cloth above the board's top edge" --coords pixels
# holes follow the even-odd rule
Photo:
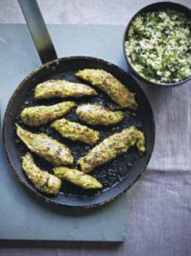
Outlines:
[[[31,0],[32,1],[32,0]],[[153,0],[37,0],[49,24],[125,25],[140,8]],[[164,0],[165,1],[165,0]],[[162,1],[158,1],[162,2]],[[187,6],[190,0],[174,0]],[[0,23],[24,23],[17,0],[0,1]]]

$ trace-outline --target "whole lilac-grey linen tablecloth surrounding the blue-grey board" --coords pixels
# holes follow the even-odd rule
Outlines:
[[[123,25],[135,11],[154,1],[38,2],[48,23]],[[176,2],[191,7],[190,0]],[[16,0],[1,0],[0,12],[0,22],[23,22]],[[124,27],[121,29],[123,31]],[[119,58],[124,58],[122,53],[118,54]],[[119,246],[97,243],[7,243],[0,250],[0,255],[191,254],[191,88],[145,87],[144,90],[155,113],[156,143],[146,172],[127,192],[127,242]]]

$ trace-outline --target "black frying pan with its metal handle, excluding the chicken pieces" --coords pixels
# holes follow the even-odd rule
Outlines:
[[[71,207],[91,207],[111,201],[113,198],[126,191],[127,188],[130,188],[138,177],[140,177],[141,173],[143,173],[147,163],[149,162],[155,140],[155,124],[149,101],[147,100],[146,95],[144,95],[144,92],[140,86],[137,85],[130,75],[110,62],[87,56],[73,56],[58,59],[56,50],[54,49],[36,1],[19,0],[19,3],[21,9],[23,10],[24,17],[27,21],[27,25],[29,26],[30,33],[33,37],[33,41],[43,65],[30,73],[20,83],[12,95],[5,111],[3,127],[4,146],[11,169],[19,178],[20,182],[27,189],[29,189],[29,191],[33,192],[33,194],[37,195],[48,203]],[[146,137],[146,153],[144,153],[143,156],[139,156],[137,150],[131,148],[128,153],[122,154],[115,160],[110,161],[108,164],[96,168],[96,170],[93,171],[93,175],[97,177],[101,183],[103,183],[104,189],[102,191],[82,191],[82,189],[76,188],[74,185],[64,182],[63,188],[57,197],[50,197],[36,191],[36,189],[33,188],[32,184],[24,175],[23,170],[21,169],[20,157],[24,152],[26,152],[27,149],[23,143],[17,141],[18,138],[16,136],[14,125],[16,122],[18,122],[24,127],[18,116],[21,109],[23,109],[26,104],[34,106],[36,104],[53,104],[61,101],[61,99],[41,102],[33,100],[33,89],[38,83],[44,82],[48,79],[57,78],[79,82],[74,74],[77,70],[84,68],[102,68],[103,70],[113,74],[113,76],[119,79],[125,86],[128,86],[131,91],[135,92],[136,100],[139,105],[136,116],[130,116],[130,118],[126,118],[124,122],[114,125],[113,127],[98,127],[97,129],[99,129],[101,132],[101,140],[116,131],[121,131],[125,127],[135,125],[143,130]],[[111,107],[113,103],[110,98],[102,92],[98,92],[100,97],[85,97],[77,100],[77,104],[87,101],[90,103],[101,102],[105,106]],[[73,121],[78,121],[74,112],[71,112],[68,116],[66,116],[66,118]],[[27,127],[27,129],[36,131],[36,128]],[[64,140],[56,132],[52,131],[48,125],[40,127],[38,131],[47,132],[51,136],[57,138],[57,140],[66,143],[72,149],[72,153],[75,156],[75,161],[79,158],[79,156],[81,156],[81,154],[84,154],[90,150],[90,147],[85,146],[82,143],[80,144],[77,142],[74,143],[72,141]],[[42,161],[42,159],[38,158],[38,156],[35,156],[35,161],[39,166],[51,171],[50,164]]]

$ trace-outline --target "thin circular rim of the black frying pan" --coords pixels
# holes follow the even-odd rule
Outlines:
[[[76,59],[88,59],[89,61],[97,61],[97,62],[103,62],[104,64],[106,65],[111,65],[112,67],[116,68],[119,73],[122,73],[124,74],[125,76],[129,76],[130,79],[132,79],[134,82],[135,80],[130,76],[130,74],[128,74],[127,72],[125,72],[124,70],[122,70],[122,68],[116,66],[115,64],[112,64],[111,62],[108,62],[108,61],[104,61],[103,59],[99,59],[99,58],[94,58],[94,57],[90,57],[90,56],[68,56],[68,57],[64,57],[64,58],[57,58],[57,59],[54,59],[53,61],[50,61],[50,62],[47,62],[46,64],[44,65],[41,65],[39,66],[38,68],[35,68],[35,70],[33,70],[30,74],[28,74],[22,81],[21,83],[19,84],[19,86],[17,86],[17,88],[15,89],[15,91],[13,92],[13,94],[11,95],[11,98],[10,100],[8,101],[8,104],[7,104],[7,107],[5,109],[5,114],[4,114],[4,121],[3,121],[3,127],[2,127],[2,131],[3,131],[3,144],[4,144],[4,149],[5,149],[5,154],[7,156],[7,159],[8,159],[8,163],[11,167],[11,170],[14,172],[14,174],[16,175],[17,179],[19,179],[20,183],[22,185],[24,185],[24,187],[27,188],[27,191],[30,191],[32,192],[32,194],[35,194],[36,197],[40,198],[42,201],[45,201],[47,203],[51,203],[51,204],[56,204],[56,205],[60,205],[60,206],[65,206],[65,207],[73,207],[73,208],[90,208],[90,207],[97,207],[97,206],[100,206],[102,204],[105,204],[105,203],[108,203],[109,201],[112,201],[114,200],[116,197],[118,197],[119,195],[123,194],[125,191],[127,191],[127,189],[130,189],[131,186],[140,178],[141,174],[143,174],[144,170],[146,170],[146,167],[147,167],[147,164],[149,163],[150,161],[150,157],[152,156],[152,152],[153,152],[153,147],[154,147],[154,144],[155,144],[155,120],[154,120],[154,116],[153,116],[153,110],[152,110],[152,107],[150,106],[150,102],[149,100],[147,99],[146,95],[144,94],[143,92],[143,89],[141,89],[140,85],[138,85],[137,82],[135,82],[138,86],[138,88],[140,88],[141,92],[144,94],[144,97],[146,97],[146,100],[147,100],[147,103],[148,103],[148,106],[149,106],[149,109],[150,109],[150,113],[151,113],[151,121],[152,121],[152,138],[153,140],[151,141],[152,143],[150,143],[150,152],[149,152],[149,155],[147,156],[147,159],[146,159],[146,162],[144,162],[144,165],[143,167],[141,168],[140,170],[140,174],[137,176],[137,178],[134,180],[134,182],[132,182],[130,185],[127,186],[127,188],[122,188],[122,191],[119,191],[118,194],[112,196],[111,198],[109,198],[108,200],[102,200],[102,201],[99,201],[97,203],[84,203],[84,204],[67,204],[67,203],[59,203],[57,201],[54,200],[54,197],[46,197],[45,195],[41,194],[41,192],[37,191],[35,188],[31,188],[29,185],[27,185],[27,183],[21,179],[21,177],[19,176],[19,173],[17,172],[16,168],[14,167],[14,164],[13,162],[11,161],[11,156],[10,156],[10,153],[9,153],[9,150],[8,150],[8,145],[7,145],[7,138],[5,137],[5,125],[6,125],[6,121],[7,121],[7,117],[9,115],[9,109],[12,105],[12,101],[15,97],[15,95],[17,95],[17,91],[20,90],[20,88],[22,86],[24,86],[24,84],[26,83],[26,81],[32,77],[33,75],[35,75],[36,73],[38,73],[40,70],[42,70],[43,68],[47,67],[48,65],[52,65],[52,64],[56,64],[58,63],[59,61],[68,61],[68,60],[76,60]],[[120,182],[119,182],[120,183]]]

